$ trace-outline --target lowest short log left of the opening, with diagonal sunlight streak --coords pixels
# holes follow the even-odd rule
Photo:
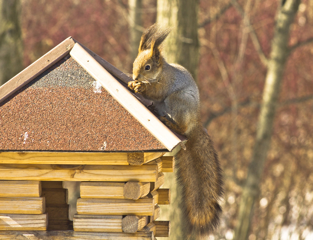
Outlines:
[[[47,214],[0,214],[0,230],[47,230]]]

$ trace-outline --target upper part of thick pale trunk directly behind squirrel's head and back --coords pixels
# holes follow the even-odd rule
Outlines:
[[[172,28],[164,47],[167,61],[188,69],[195,80],[199,61],[198,5],[198,0],[157,1],[157,22]]]

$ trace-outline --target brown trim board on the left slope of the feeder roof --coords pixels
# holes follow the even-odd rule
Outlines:
[[[0,86],[0,103],[69,54],[75,43],[76,40],[74,38],[66,38],[62,43]]]

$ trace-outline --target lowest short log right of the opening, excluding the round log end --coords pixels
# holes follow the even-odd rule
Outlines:
[[[75,214],[73,228],[79,232],[123,232],[122,218],[114,215]]]

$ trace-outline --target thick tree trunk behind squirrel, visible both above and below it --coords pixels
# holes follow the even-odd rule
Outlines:
[[[172,28],[163,49],[167,61],[181,64],[192,73],[196,80],[199,55],[198,0],[158,0],[156,21]],[[167,174],[165,181],[164,187],[171,189],[171,204],[166,209],[163,206],[162,212],[166,212],[166,219],[171,220],[170,238],[181,240],[184,227],[179,210],[179,189],[177,189],[174,174]]]

